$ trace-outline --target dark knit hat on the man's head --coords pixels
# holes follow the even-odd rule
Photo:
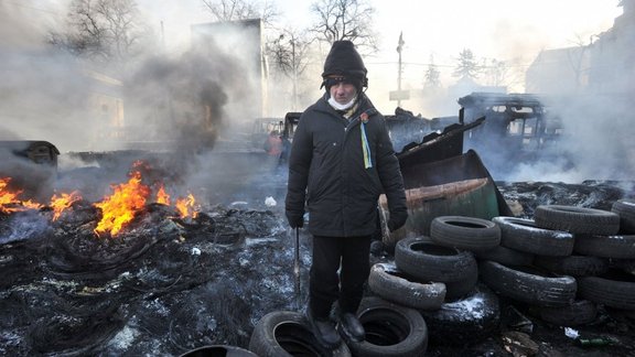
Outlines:
[[[333,43],[326,61],[324,61],[322,78],[333,75],[343,76],[360,90],[362,87],[368,86],[366,73],[368,71],[366,71],[364,61],[362,61],[362,56],[355,50],[353,42],[343,40]],[[322,85],[324,86],[326,83],[322,83]]]

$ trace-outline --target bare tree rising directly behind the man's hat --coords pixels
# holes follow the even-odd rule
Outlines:
[[[349,40],[370,53],[377,52],[377,35],[372,22],[375,8],[367,0],[320,0],[311,4],[318,17],[312,28],[320,41]]]

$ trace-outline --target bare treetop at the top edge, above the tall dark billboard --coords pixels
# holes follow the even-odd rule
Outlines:
[[[247,19],[261,19],[262,23],[271,26],[279,17],[272,2],[256,0],[203,0],[203,4],[217,21],[237,21]]]

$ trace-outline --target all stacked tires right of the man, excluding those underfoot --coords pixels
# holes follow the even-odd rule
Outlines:
[[[599,305],[635,313],[633,209],[618,201],[612,212],[543,205],[534,219],[437,217],[430,237],[399,240],[395,263],[373,267],[368,285],[418,310],[437,345],[491,336],[499,299],[560,326],[593,323]]]

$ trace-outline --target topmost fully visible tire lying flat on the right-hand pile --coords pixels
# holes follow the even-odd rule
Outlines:
[[[620,216],[595,208],[540,205],[534,212],[536,226],[581,235],[611,236],[620,231]]]

